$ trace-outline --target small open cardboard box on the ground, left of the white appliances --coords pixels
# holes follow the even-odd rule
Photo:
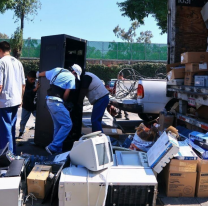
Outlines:
[[[52,167],[46,165],[35,165],[27,177],[28,193],[33,193],[36,198],[45,197],[46,180]]]

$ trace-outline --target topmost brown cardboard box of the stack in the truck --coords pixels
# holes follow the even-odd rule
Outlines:
[[[208,62],[207,52],[186,52],[181,54],[181,63],[204,63]]]

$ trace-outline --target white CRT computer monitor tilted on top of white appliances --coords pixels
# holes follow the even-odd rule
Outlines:
[[[101,132],[84,135],[69,153],[71,163],[82,165],[91,171],[99,171],[113,165],[113,151],[109,137]]]

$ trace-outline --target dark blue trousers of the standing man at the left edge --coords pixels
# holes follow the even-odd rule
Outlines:
[[[18,106],[0,108],[0,149],[9,142],[9,150],[16,154],[15,126]]]

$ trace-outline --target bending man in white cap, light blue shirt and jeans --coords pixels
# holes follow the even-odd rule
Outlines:
[[[63,142],[72,129],[72,121],[69,111],[64,106],[71,89],[75,89],[75,75],[80,79],[82,69],[79,65],[72,66],[76,69],[73,73],[67,69],[55,68],[38,74],[50,80],[50,88],[47,91],[46,103],[51,114],[54,133],[53,141],[45,148],[49,154],[62,152]]]

